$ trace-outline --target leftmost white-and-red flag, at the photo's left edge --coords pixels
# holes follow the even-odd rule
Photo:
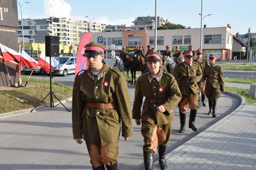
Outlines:
[[[0,48],[3,54],[3,59],[5,61],[17,60],[18,62],[20,62],[20,59],[21,59],[20,53],[14,51],[11,48],[6,47],[1,43],[0,43]]]

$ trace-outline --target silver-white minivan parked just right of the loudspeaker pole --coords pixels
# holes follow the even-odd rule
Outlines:
[[[59,64],[55,68],[52,68],[52,75],[67,76],[67,74],[76,72],[76,57],[64,56],[58,57],[56,60]]]

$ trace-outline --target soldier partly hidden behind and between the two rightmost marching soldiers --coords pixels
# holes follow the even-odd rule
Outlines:
[[[197,62],[197,63],[200,65],[201,70],[203,71],[204,68],[205,68],[207,65],[209,65],[209,63],[208,63],[207,59],[203,59],[203,58],[202,58],[202,56],[203,56],[203,51],[201,51],[201,50],[196,51],[196,56],[197,56],[197,57],[196,57],[196,59],[194,59],[194,62]],[[198,86],[199,86],[199,87],[200,87],[200,85],[201,85],[201,82],[198,82]],[[203,103],[203,106],[205,107],[206,104],[205,104],[205,101],[204,101],[204,99],[205,99],[204,88],[205,88],[205,83],[204,83],[203,87],[200,88],[202,103]],[[200,107],[200,92],[199,92],[198,95],[199,95],[199,97],[198,97],[198,106]]]

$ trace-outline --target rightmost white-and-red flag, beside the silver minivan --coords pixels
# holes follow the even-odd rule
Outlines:
[[[46,57],[44,51],[41,53],[38,59],[38,66],[43,68],[47,73],[50,73],[50,59],[51,68],[54,68],[59,64],[59,62],[54,57]]]

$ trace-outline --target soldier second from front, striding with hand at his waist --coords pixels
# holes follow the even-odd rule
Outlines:
[[[135,87],[132,117],[137,125],[142,123],[145,170],[153,170],[153,154],[157,151],[157,144],[160,168],[166,170],[166,144],[171,135],[173,111],[181,99],[175,78],[172,74],[160,69],[161,60],[160,54],[148,55],[149,71],[137,79]],[[145,96],[144,103],[143,96]],[[141,112],[142,103],[143,110]]]

